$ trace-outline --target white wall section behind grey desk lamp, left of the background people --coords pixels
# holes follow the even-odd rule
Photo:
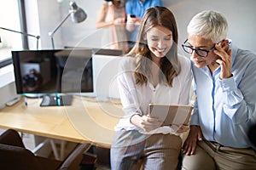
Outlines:
[[[27,3],[34,0],[26,0]],[[69,0],[38,0],[39,27],[41,33],[41,48],[51,48],[49,31],[55,30],[55,27],[61,23],[69,10]],[[79,7],[83,8],[88,18],[79,24],[74,24],[71,18],[68,18],[58,31],[55,32],[55,48],[63,48],[64,46],[76,46],[84,37],[94,34],[96,31],[96,9],[100,8],[103,1],[77,0],[75,1]],[[30,22],[28,25],[32,26]],[[90,44],[82,44],[86,47],[96,47],[94,42],[96,38],[92,37]]]

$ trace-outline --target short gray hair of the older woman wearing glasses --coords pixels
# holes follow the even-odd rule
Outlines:
[[[216,43],[227,37],[228,27],[223,14],[205,10],[190,20],[187,31],[189,35],[201,36]]]

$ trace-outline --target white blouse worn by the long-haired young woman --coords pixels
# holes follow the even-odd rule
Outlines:
[[[143,129],[130,122],[134,114],[148,115],[148,104],[162,105],[188,105],[191,89],[192,73],[190,60],[178,55],[181,71],[173,79],[172,87],[166,84],[158,84],[155,88],[150,83],[138,85],[134,76],[136,68],[135,58],[125,57],[121,62],[118,77],[119,95],[123,105],[125,116],[115,126],[115,130],[138,130]],[[159,127],[149,133],[173,133],[171,127]]]

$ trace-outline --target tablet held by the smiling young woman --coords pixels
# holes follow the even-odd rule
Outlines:
[[[192,105],[148,105],[149,115],[164,122],[162,126],[189,124],[192,110]]]

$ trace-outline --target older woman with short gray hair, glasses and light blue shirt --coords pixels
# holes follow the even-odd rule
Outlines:
[[[247,138],[256,122],[256,55],[227,39],[227,20],[216,11],[196,14],[187,31],[196,100],[183,169],[256,169]]]

